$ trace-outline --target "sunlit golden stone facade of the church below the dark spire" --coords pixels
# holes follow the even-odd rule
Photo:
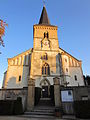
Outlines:
[[[47,40],[50,41],[50,45],[44,39],[44,33],[47,31],[50,37]],[[45,44],[47,45],[45,46]],[[47,60],[43,58],[45,55],[48,57]],[[42,66],[45,63],[50,67],[50,75],[42,75]],[[35,86],[39,86],[43,77],[53,84],[55,76],[60,78],[61,85],[83,86],[84,80],[81,64],[81,61],[59,48],[57,27],[35,25],[34,48],[8,59],[8,69],[4,77],[3,87],[28,87],[28,76],[36,80]],[[21,76],[21,81],[18,81],[19,76]]]

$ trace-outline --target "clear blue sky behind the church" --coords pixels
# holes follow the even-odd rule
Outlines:
[[[90,75],[90,0],[46,0],[50,23],[58,26],[59,46],[79,60]],[[39,22],[43,0],[0,0],[0,19],[8,23],[0,46],[0,87],[7,58],[33,48],[33,25]]]

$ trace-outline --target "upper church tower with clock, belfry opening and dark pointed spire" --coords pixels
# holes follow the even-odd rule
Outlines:
[[[57,26],[50,24],[45,6],[39,23],[34,25],[34,50],[58,50]]]

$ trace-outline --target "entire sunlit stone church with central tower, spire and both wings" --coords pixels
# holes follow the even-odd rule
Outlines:
[[[37,91],[40,98],[50,98],[55,79],[63,87],[84,86],[82,61],[59,47],[57,30],[44,6],[39,23],[33,25],[33,48],[8,58],[2,88],[27,88],[29,107],[35,104],[31,96]]]

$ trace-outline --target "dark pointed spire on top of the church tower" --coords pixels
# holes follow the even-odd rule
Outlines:
[[[48,15],[47,15],[47,11],[46,11],[45,5],[43,6],[43,10],[42,10],[42,13],[41,13],[39,24],[50,25],[50,21],[48,19]]]

